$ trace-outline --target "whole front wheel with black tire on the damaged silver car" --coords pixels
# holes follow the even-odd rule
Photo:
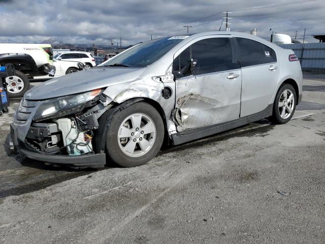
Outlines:
[[[148,103],[135,103],[114,115],[106,136],[106,152],[120,166],[139,166],[157,155],[164,135],[158,111]]]

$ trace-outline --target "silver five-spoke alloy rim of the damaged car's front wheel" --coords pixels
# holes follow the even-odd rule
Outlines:
[[[129,115],[117,133],[118,145],[129,157],[140,157],[148,153],[156,139],[153,120],[142,113]]]

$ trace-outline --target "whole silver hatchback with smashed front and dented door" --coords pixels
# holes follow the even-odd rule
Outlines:
[[[55,81],[54,81],[55,80]],[[236,32],[138,44],[90,70],[25,94],[11,124],[20,153],[72,166],[124,167],[177,145],[271,117],[284,124],[302,99],[292,50]]]

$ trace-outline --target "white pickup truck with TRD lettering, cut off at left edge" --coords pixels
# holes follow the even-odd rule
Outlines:
[[[50,44],[0,43],[0,65],[6,64],[16,68],[16,76],[6,78],[10,98],[24,95],[29,89],[29,78],[55,74]]]

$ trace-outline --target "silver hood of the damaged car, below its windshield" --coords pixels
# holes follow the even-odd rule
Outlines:
[[[146,68],[95,67],[45,81],[29,89],[25,99],[43,100],[136,80]]]

